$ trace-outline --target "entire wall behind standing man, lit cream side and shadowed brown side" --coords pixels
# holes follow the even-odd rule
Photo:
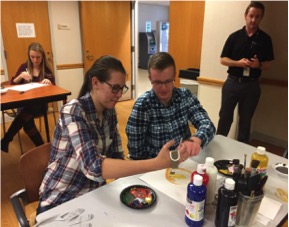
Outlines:
[[[260,25],[273,41],[275,60],[262,77],[288,80],[288,3],[265,1],[265,17]],[[245,25],[244,12],[249,1],[207,1],[203,30],[200,76],[224,81],[227,67],[220,54],[229,34]],[[252,120],[254,138],[287,147],[288,87],[262,85],[262,95]],[[221,87],[200,85],[199,99],[215,126],[221,104]],[[235,137],[237,114],[229,137]]]

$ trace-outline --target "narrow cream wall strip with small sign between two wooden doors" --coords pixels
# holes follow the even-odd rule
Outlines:
[[[78,2],[48,2],[54,65],[83,63]],[[59,30],[58,25],[69,30]],[[71,91],[76,98],[83,82],[83,69],[56,70],[57,85]]]

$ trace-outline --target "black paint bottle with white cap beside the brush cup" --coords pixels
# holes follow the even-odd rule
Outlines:
[[[218,203],[215,217],[216,227],[235,226],[237,215],[238,193],[235,181],[227,178],[225,185],[218,191]]]

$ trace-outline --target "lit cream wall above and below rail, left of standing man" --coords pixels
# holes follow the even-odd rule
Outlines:
[[[227,37],[244,26],[244,11],[248,1],[207,1],[201,53],[200,76],[224,81],[227,67],[220,64],[220,55]],[[199,85],[198,98],[207,110],[215,127],[218,126],[221,106],[220,86]],[[237,108],[229,137],[236,137]]]

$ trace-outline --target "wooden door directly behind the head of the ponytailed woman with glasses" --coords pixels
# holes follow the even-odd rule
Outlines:
[[[121,60],[131,88],[131,9],[129,1],[81,1],[84,71],[102,55]],[[121,100],[131,98],[132,89]]]

